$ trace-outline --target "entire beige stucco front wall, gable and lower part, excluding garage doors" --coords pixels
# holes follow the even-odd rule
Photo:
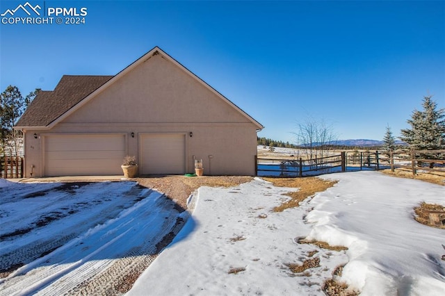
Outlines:
[[[157,55],[52,129],[26,131],[25,174],[31,176],[31,165],[33,176],[44,174],[42,143],[51,133],[127,133],[128,154],[139,158],[142,133],[192,132],[193,137],[186,137],[187,172],[194,171],[195,156],[203,160],[204,174],[253,175],[257,128],[195,77]]]

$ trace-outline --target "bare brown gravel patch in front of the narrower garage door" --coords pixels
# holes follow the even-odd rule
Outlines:
[[[163,192],[174,200],[183,211],[187,208],[187,198],[201,186],[232,187],[253,180],[252,176],[162,176],[135,178],[141,186]]]

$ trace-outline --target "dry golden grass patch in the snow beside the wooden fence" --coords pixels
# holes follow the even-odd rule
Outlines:
[[[286,208],[295,208],[300,206],[300,202],[307,199],[317,192],[323,192],[327,188],[334,186],[337,181],[327,181],[316,177],[306,177],[306,178],[263,178],[264,180],[273,183],[274,186],[279,187],[290,187],[290,188],[300,188],[296,192],[286,193],[291,199],[284,202],[280,206],[273,209],[275,212],[282,212]]]

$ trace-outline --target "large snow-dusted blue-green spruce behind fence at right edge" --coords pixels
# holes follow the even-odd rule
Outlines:
[[[416,150],[445,149],[445,109],[437,110],[431,96],[423,97],[423,110],[414,110],[407,120],[411,129],[401,130],[401,140]]]

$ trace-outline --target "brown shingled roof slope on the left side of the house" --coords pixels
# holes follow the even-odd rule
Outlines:
[[[53,91],[41,90],[16,126],[47,126],[113,76],[64,75]]]

